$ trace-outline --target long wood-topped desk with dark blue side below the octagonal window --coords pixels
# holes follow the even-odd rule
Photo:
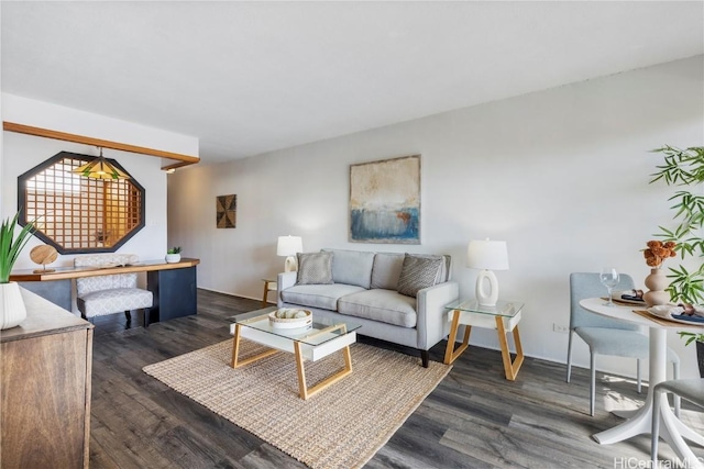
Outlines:
[[[200,264],[199,259],[182,258],[180,261],[173,264],[160,259],[110,268],[56,267],[53,272],[13,270],[10,280],[72,311],[74,279],[146,272],[146,288],[154,294],[154,306],[151,310],[151,322],[154,323],[196,314],[196,266],[198,264]]]

